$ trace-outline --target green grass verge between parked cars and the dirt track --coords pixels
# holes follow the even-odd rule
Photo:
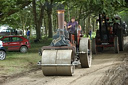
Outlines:
[[[6,59],[0,61],[0,76],[11,75],[37,68],[37,62],[41,59],[38,51],[42,46],[47,46],[52,39],[44,38],[38,43],[31,39],[31,48],[27,53],[7,52]]]

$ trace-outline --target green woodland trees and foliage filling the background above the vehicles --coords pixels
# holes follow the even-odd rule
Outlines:
[[[113,17],[123,11],[120,13],[123,16],[128,11],[127,0],[1,0],[0,24],[24,30],[33,28],[37,39],[41,39],[40,30],[43,26],[44,34],[52,37],[53,31],[58,28],[56,10],[59,4],[64,6],[65,20],[68,22],[71,17],[76,17],[83,30],[88,17],[92,17],[88,20],[94,23],[99,14]]]

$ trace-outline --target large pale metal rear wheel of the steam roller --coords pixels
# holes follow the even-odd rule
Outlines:
[[[81,38],[79,50],[81,67],[89,68],[92,62],[91,41],[88,38]]]

